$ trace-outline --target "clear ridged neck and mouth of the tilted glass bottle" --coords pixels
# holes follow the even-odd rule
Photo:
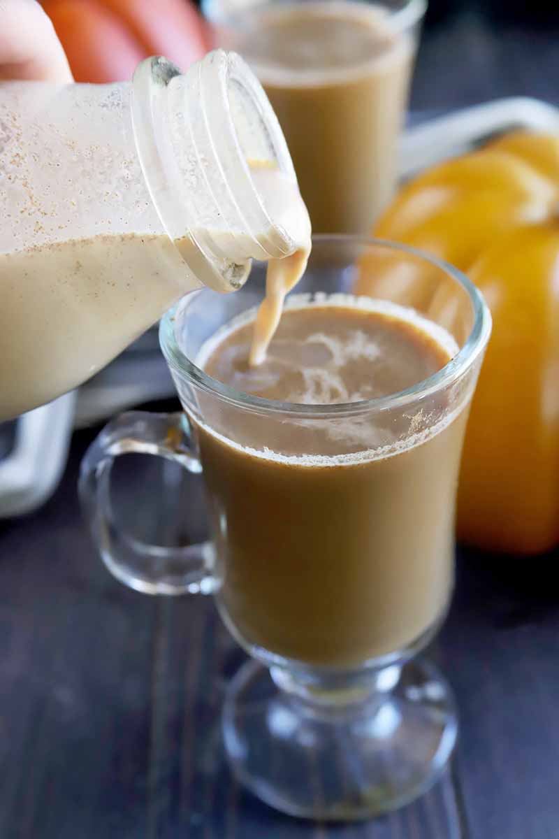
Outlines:
[[[167,59],[138,66],[132,82],[137,154],[168,236],[198,279],[231,291],[251,258],[297,247],[261,169],[297,178],[267,96],[241,58],[215,50],[181,74]]]

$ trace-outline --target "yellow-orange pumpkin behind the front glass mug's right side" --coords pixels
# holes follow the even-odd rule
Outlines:
[[[375,235],[467,272],[493,315],[458,489],[458,535],[559,545],[559,137],[513,133],[407,184]],[[362,272],[361,294],[375,293]]]

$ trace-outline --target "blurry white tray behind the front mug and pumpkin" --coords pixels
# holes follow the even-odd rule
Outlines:
[[[474,149],[515,128],[559,130],[556,107],[526,97],[498,99],[408,128],[401,142],[401,177]],[[72,428],[106,420],[142,402],[173,396],[173,383],[153,331],[78,393],[69,393],[18,420],[16,440],[0,461],[0,519],[29,513],[54,492],[65,467]]]

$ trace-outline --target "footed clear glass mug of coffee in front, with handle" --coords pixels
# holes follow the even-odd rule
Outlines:
[[[357,289],[412,307],[456,351],[400,393],[277,403],[196,364],[210,336],[261,300],[255,274],[263,268],[250,289],[203,289],[165,315],[160,341],[184,414],[109,423],[85,455],[80,495],[111,573],[150,594],[212,593],[251,655],[223,711],[241,781],[295,816],[365,818],[428,789],[456,739],[452,693],[415,656],[452,594],[454,496],[489,310],[463,274],[413,248],[315,237],[294,294]],[[326,454],[317,440],[329,440]],[[110,477],[129,452],[203,473],[211,542],[163,548],[127,532]],[[316,783],[305,780],[312,767]]]

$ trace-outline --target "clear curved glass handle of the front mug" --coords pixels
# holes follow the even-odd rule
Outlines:
[[[101,559],[125,585],[146,594],[210,594],[214,551],[210,542],[183,547],[148,545],[119,529],[111,508],[111,467],[115,458],[146,454],[179,463],[199,474],[188,420],[181,412],[129,411],[105,426],[80,466],[82,509]]]

